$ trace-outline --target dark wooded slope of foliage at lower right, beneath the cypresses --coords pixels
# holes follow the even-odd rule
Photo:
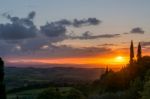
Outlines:
[[[118,72],[109,70],[94,82],[97,83],[101,92],[93,99],[139,99],[141,96],[142,99],[150,99],[150,57],[139,58]]]

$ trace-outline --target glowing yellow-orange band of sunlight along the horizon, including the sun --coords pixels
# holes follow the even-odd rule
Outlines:
[[[111,57],[91,57],[91,58],[48,58],[48,59],[10,59],[7,61],[11,64],[89,64],[95,67],[117,67],[121,68],[128,63],[128,57],[111,56]],[[88,66],[87,66],[88,67]]]

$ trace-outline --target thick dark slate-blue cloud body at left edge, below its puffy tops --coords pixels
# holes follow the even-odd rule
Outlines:
[[[16,40],[32,38],[36,36],[35,28],[26,28],[19,24],[0,24],[0,38],[6,40]]]

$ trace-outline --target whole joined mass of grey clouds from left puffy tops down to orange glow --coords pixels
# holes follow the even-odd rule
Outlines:
[[[110,51],[105,47],[73,48],[69,46],[56,46],[53,43],[65,39],[97,39],[112,38],[119,34],[91,35],[85,32],[81,36],[67,35],[68,26],[80,28],[81,26],[98,25],[101,23],[96,18],[59,20],[40,26],[34,24],[35,12],[30,12],[27,17],[20,18],[3,14],[10,22],[0,24],[0,56],[31,56],[31,57],[80,57],[92,56]]]

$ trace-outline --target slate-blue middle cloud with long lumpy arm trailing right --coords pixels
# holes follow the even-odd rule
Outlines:
[[[51,41],[53,42],[59,42],[59,41],[62,41],[64,39],[69,39],[69,38],[72,38],[72,39],[83,38],[84,39],[86,38],[86,34],[83,34],[83,37],[71,37],[67,35],[66,34],[67,27],[74,26],[76,28],[79,28],[81,26],[98,25],[100,22],[101,21],[96,18],[88,18],[88,19],[83,19],[83,20],[74,19],[73,21],[62,19],[62,20],[50,22],[41,26],[40,32],[44,34],[45,36],[49,37]],[[90,39],[90,38],[94,39],[97,37],[96,36],[90,37],[88,35],[87,39]]]

